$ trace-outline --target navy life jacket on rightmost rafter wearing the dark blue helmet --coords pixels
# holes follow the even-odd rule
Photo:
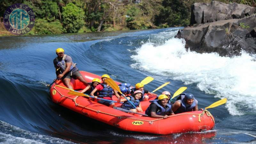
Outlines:
[[[180,94],[181,106],[180,106],[180,108],[177,109],[177,111],[174,112],[175,114],[193,111],[193,108],[196,107],[198,101],[195,99],[195,97],[194,97],[194,101],[193,101],[192,105],[188,105],[185,101],[185,95],[186,94]]]

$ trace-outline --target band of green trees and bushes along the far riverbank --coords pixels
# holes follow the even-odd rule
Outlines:
[[[188,25],[193,3],[212,0],[3,0],[8,6],[27,4],[36,15],[30,35],[167,28]],[[254,0],[220,0],[256,6]],[[11,35],[0,18],[0,36]]]

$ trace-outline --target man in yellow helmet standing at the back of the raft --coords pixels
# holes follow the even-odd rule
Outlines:
[[[62,48],[57,48],[56,54],[58,56],[53,60],[53,64],[56,69],[57,79],[62,79],[63,83],[69,89],[73,89],[70,85],[71,78],[78,79],[87,86],[87,82],[78,71],[78,68],[76,68],[76,64],[72,62],[72,58],[64,54],[64,50]]]

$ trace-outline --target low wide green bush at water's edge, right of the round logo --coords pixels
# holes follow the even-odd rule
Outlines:
[[[45,19],[36,19],[36,23],[33,29],[38,35],[63,33],[63,28],[59,20],[54,22],[47,22]]]

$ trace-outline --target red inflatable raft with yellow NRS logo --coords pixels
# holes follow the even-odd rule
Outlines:
[[[100,76],[80,71],[87,82],[92,82],[94,78]],[[116,82],[117,84],[120,84]],[[64,86],[62,81],[54,83],[50,88],[50,95],[52,101],[69,108],[82,115],[88,116],[103,123],[118,127],[126,131],[146,132],[154,134],[171,134],[182,132],[200,132],[211,130],[214,127],[214,118],[207,110],[193,111],[169,118],[151,118],[148,116],[141,116],[139,114],[131,115],[117,109],[107,107],[95,101],[90,101],[88,98],[68,94],[69,90],[56,86]],[[84,84],[78,80],[71,79],[71,85],[75,90],[82,90],[85,88]],[[113,96],[113,100],[116,96]],[[149,95],[149,100],[155,99],[156,96]],[[141,106],[145,114],[145,110],[150,103],[142,101]],[[116,103],[120,106],[120,103]],[[143,113],[143,112],[141,112]]]

